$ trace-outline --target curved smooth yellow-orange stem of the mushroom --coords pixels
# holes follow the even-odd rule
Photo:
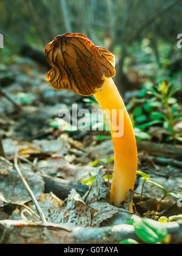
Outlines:
[[[127,192],[133,190],[135,185],[137,169],[135,133],[123,99],[111,78],[105,79],[101,91],[95,93],[94,96],[106,111],[111,123],[115,162],[110,200],[115,206],[120,207],[121,202],[127,199]],[[112,110],[116,111],[112,113]],[[118,130],[122,133],[121,135]],[[119,137],[115,136],[116,133]],[[132,204],[130,211],[132,211]]]

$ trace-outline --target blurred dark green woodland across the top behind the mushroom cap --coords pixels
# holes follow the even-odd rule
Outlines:
[[[120,90],[135,88],[140,79],[135,65],[141,73],[158,72],[180,59],[181,8],[177,0],[1,0],[5,48],[0,60],[10,62],[19,52],[30,55],[25,46],[43,51],[56,35],[80,32],[116,55]],[[171,68],[180,68],[175,65]]]

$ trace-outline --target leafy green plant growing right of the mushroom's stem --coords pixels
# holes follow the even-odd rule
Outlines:
[[[163,125],[158,133],[166,135],[166,141],[182,141],[182,133],[175,132],[175,123],[182,119],[180,105],[174,98],[178,90],[180,85],[172,85],[166,80],[155,88],[148,81],[140,90],[138,98],[127,104],[127,110],[132,112],[130,118],[137,140],[150,140],[149,128]]]

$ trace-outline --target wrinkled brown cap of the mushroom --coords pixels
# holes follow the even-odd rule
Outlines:
[[[47,44],[45,54],[52,67],[46,78],[55,90],[89,96],[101,90],[104,77],[116,73],[115,56],[82,34],[58,35]]]

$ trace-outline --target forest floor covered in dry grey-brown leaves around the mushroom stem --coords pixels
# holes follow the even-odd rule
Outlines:
[[[62,233],[49,233],[51,238],[48,240],[46,235],[45,240],[50,243],[76,243],[80,240],[101,243],[99,235],[95,235],[93,241],[91,238],[81,238],[81,233],[70,237],[68,232],[75,227],[106,227],[109,230],[110,227],[125,224],[131,218],[121,208],[108,204],[107,182],[103,179],[106,168],[91,166],[95,160],[113,157],[112,141],[96,140],[98,135],[108,134],[93,131],[66,133],[53,127],[60,110],[72,110],[72,104],[76,104],[78,110],[88,107],[83,98],[72,91],[58,92],[50,88],[45,80],[44,68],[29,59],[19,58],[9,66],[0,64],[0,73],[3,74],[0,76],[1,90],[5,93],[0,98],[0,135],[8,160],[0,160],[0,227],[6,223],[6,227],[11,226],[14,234],[7,236],[0,228],[0,242],[45,242],[42,238],[44,231],[41,226],[39,229],[37,226],[40,217],[13,164],[18,160],[18,166],[38,199],[47,222],[52,223],[52,229],[58,229],[54,225],[64,225]],[[163,150],[160,151],[162,144],[157,144],[157,152],[152,151],[154,146],[156,144],[150,141],[146,144],[145,141],[138,142],[138,170],[148,174],[167,191],[181,193],[181,147],[171,144],[169,152],[166,149],[163,154]],[[158,156],[165,156],[169,161],[160,162]],[[113,163],[110,163],[109,171],[112,172],[112,169]],[[81,183],[81,180],[96,175],[91,189]],[[133,199],[136,215],[158,220],[160,216],[169,218],[182,214],[182,207],[171,196],[167,196],[158,208],[164,191],[149,182],[144,186],[144,196],[140,203],[142,185],[143,179],[137,176]],[[17,231],[18,223],[19,226],[26,226],[27,223],[29,226],[31,223],[35,226],[37,236],[33,238],[34,232],[31,231],[30,235],[30,230],[27,230],[30,232],[29,238],[23,234],[25,230]],[[125,232],[133,236],[130,230]],[[127,237],[126,233],[124,237]],[[77,240],[76,235],[79,237]],[[111,241],[117,242],[118,236]]]

